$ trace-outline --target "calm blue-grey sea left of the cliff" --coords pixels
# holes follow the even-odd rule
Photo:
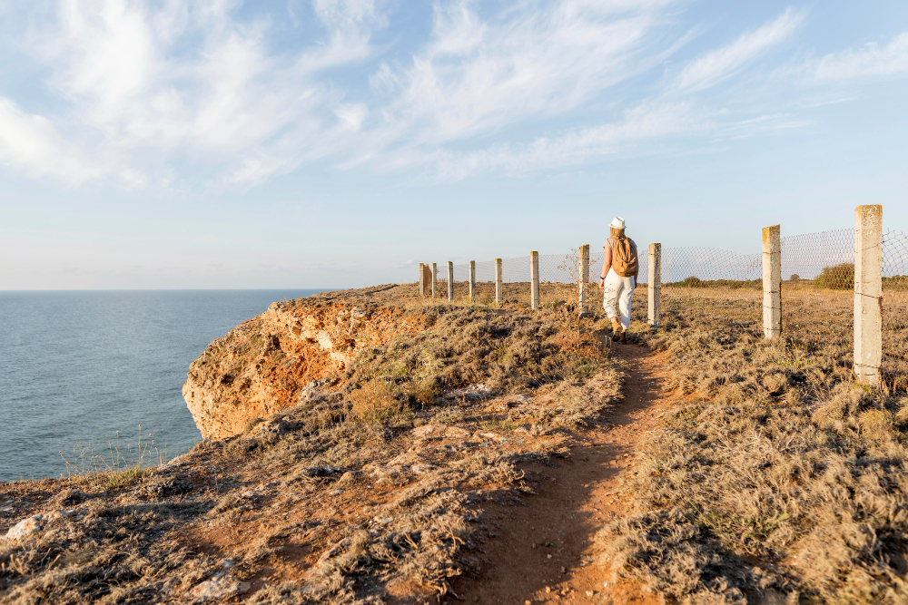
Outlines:
[[[77,444],[201,436],[181,388],[215,338],[321,290],[0,291],[0,481],[66,473]]]

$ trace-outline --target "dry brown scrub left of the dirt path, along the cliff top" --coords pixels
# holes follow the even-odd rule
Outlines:
[[[393,306],[422,329],[363,351],[244,434],[117,481],[0,483],[0,535],[43,515],[0,540],[0,600],[443,594],[477,561],[483,503],[520,502],[519,464],[567,455],[572,430],[617,397],[618,373],[559,328],[561,307],[438,305],[412,289],[298,301]]]

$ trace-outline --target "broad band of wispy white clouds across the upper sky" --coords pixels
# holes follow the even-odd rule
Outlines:
[[[726,84],[745,70],[759,77],[803,11],[675,68],[666,59],[691,38],[679,21],[688,0],[505,4],[439,0],[425,36],[403,41],[384,35],[400,7],[380,0],[296,5],[294,29],[222,0],[64,0],[8,13],[36,24],[15,44],[42,65],[47,98],[0,89],[0,162],[73,184],[181,190],[249,188],[316,161],[449,180],[810,123],[795,114],[804,103],[722,109]],[[908,34],[797,69],[816,86],[906,73]]]

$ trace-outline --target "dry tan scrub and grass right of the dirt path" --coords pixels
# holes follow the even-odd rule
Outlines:
[[[759,293],[701,296],[646,336],[686,397],[637,454],[602,561],[682,602],[908,600],[908,398],[854,385],[847,305],[789,298],[766,341]]]

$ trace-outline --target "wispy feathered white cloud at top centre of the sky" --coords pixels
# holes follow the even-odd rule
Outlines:
[[[487,18],[472,2],[437,5],[426,48],[373,85],[396,85],[386,115],[417,144],[563,114],[664,58],[666,4],[522,2]]]

